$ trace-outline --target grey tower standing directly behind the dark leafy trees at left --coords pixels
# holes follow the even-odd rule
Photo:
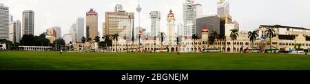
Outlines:
[[[23,11],[23,34],[34,34],[34,11]]]

